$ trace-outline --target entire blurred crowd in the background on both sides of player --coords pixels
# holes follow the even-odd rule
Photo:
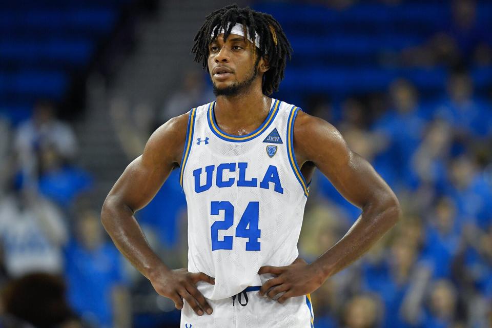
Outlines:
[[[452,28],[398,54],[399,65],[444,66],[445,90],[428,94],[396,78],[384,93],[303,94],[296,104],[341,131],[404,213],[368,254],[312,295],[317,327],[492,326],[492,86],[477,91],[469,72],[492,65],[492,32],[475,25],[474,2],[454,6]],[[111,124],[128,161],[160,124],[213,98],[195,70],[161,105],[114,98]],[[97,181],[77,156],[73,126],[57,118],[50,100],[37,101],[18,125],[0,118],[0,326],[176,326],[174,304],[105,235],[87,197]],[[299,240],[308,261],[360,215],[319,172],[311,186]],[[187,267],[177,172],[136,216],[163,261]]]

